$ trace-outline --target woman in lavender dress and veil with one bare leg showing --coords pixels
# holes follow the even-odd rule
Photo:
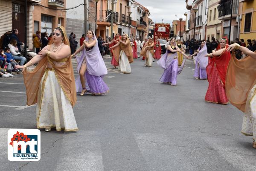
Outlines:
[[[81,52],[80,56],[76,54]],[[99,52],[97,38],[92,30],[87,32],[84,44],[74,53],[77,60],[77,71],[79,77],[76,78],[76,92],[81,92],[84,96],[87,91],[96,94],[104,94],[109,91],[108,86],[102,76],[108,74],[107,67]]]

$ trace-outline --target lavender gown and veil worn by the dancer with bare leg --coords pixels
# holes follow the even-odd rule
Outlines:
[[[94,40],[97,41],[94,36]],[[88,41],[88,38],[85,38]],[[85,46],[85,45],[84,45]],[[91,48],[84,48],[81,55],[76,55],[77,71],[80,71],[81,65],[86,63],[87,70],[84,73],[84,80],[86,80],[86,89],[92,94],[104,94],[109,91],[107,84],[103,81],[103,76],[108,74],[107,67],[99,52],[98,43]],[[80,76],[76,78],[76,92],[82,91],[82,84]]]

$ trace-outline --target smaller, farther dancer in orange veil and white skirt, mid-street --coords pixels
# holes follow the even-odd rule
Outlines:
[[[145,43],[140,55],[145,56],[146,61],[144,65],[146,67],[151,67],[154,58],[154,42],[151,37],[148,38],[148,41]]]

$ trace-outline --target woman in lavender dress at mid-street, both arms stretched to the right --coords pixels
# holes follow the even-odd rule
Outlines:
[[[160,81],[165,84],[176,85],[177,74],[180,74],[184,67],[186,60],[183,60],[181,67],[178,67],[177,52],[180,52],[188,58],[188,56],[175,45],[175,39],[171,38],[170,44],[167,45],[166,53],[159,59],[159,61],[157,61],[157,64],[164,69]]]

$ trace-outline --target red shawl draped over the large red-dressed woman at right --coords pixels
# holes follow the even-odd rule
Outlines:
[[[226,40],[227,38],[224,37]],[[227,40],[228,42],[228,40]],[[227,48],[227,46],[225,47],[225,49]],[[219,50],[220,46],[218,45],[216,50]],[[219,56],[214,56],[212,55],[212,58],[209,58],[209,63],[206,67],[206,71],[207,71],[207,77],[208,77],[208,81],[211,82],[212,79],[212,71],[214,69],[214,65],[216,65],[217,71],[218,71],[218,75],[221,78],[222,81],[222,85],[223,87],[225,87],[226,85],[226,74],[227,74],[227,67],[229,64],[231,58],[231,54],[229,51],[224,50],[224,52],[219,55]]]

